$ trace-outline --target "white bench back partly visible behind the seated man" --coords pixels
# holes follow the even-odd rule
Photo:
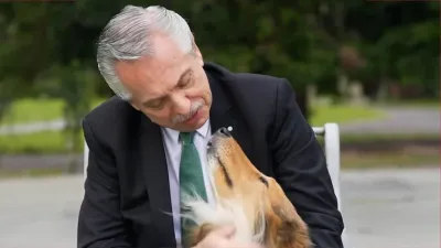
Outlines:
[[[340,194],[340,130],[336,123],[325,123],[323,127],[313,127],[315,136],[324,138],[324,153],[326,157],[327,171],[334,186],[335,196],[338,203],[338,211],[342,213],[342,200]],[[84,179],[87,176],[87,164],[88,164],[88,152],[89,148],[85,142],[84,145]],[[342,235],[344,247],[349,246],[346,235],[346,228]]]

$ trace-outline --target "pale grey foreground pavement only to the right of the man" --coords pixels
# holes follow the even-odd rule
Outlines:
[[[353,248],[439,248],[440,170],[346,171],[344,217]]]

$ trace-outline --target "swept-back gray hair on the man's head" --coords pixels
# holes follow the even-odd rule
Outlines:
[[[154,32],[169,35],[184,53],[193,51],[193,34],[186,21],[176,12],[160,6],[125,7],[99,36],[98,69],[114,93],[123,100],[130,100],[131,94],[116,74],[115,63],[153,55],[150,36]]]

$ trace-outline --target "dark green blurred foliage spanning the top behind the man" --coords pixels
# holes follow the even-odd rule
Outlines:
[[[12,99],[63,97],[79,118],[93,93],[109,94],[96,68],[96,40],[125,6],[162,4],[192,26],[206,61],[232,71],[288,78],[295,89],[316,84],[335,94],[345,74],[385,78],[439,93],[438,2],[77,0],[0,4],[0,118]],[[345,68],[342,47],[364,66]],[[432,94],[432,95],[430,95]],[[75,114],[74,114],[75,112]],[[74,121],[75,122],[75,121]]]

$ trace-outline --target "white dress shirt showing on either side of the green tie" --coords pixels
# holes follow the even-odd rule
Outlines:
[[[181,219],[180,213],[180,183],[179,183],[179,170],[181,163],[182,143],[179,139],[180,132],[170,128],[161,128],[162,137],[164,141],[164,150],[166,158],[166,166],[169,171],[170,182],[170,196],[173,212],[173,226],[174,236],[176,238],[178,247],[181,247]],[[205,188],[207,193],[208,202],[213,202],[213,192],[211,191],[209,182],[207,179],[207,164],[206,164],[206,147],[211,138],[212,131],[209,120],[205,122],[194,134],[193,142],[200,153],[202,171],[204,174]]]

